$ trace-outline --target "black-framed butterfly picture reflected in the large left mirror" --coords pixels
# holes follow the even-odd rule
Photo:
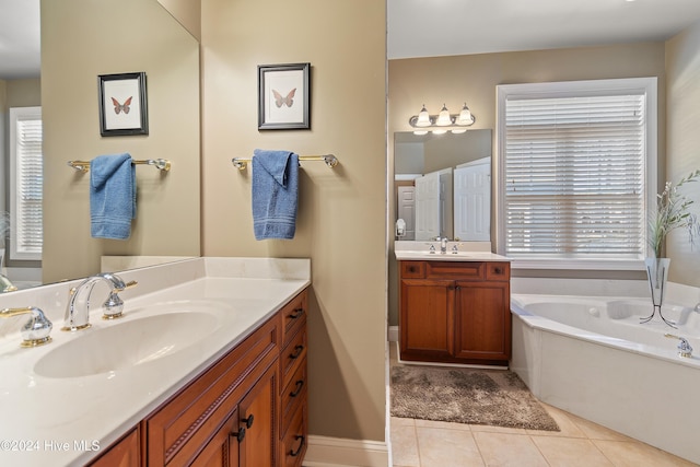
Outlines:
[[[101,74],[100,135],[148,135],[145,73]]]

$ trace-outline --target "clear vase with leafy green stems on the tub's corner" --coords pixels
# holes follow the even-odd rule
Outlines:
[[[664,191],[656,195],[656,209],[649,219],[649,245],[654,250],[654,257],[644,260],[654,311],[651,316],[641,318],[642,323],[650,322],[658,310],[658,316],[663,322],[670,327],[675,327],[673,322],[664,318],[661,311],[668,279],[668,267],[670,266],[670,258],[662,258],[661,255],[666,242],[666,235],[672,231],[686,229],[691,245],[700,234],[698,217],[689,210],[693,201],[678,192],[678,188],[698,178],[700,178],[700,170],[690,173],[675,185],[672,182],[666,182]]]

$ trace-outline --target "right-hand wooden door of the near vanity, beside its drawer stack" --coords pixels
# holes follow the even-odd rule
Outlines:
[[[238,405],[238,425],[245,429],[240,441],[241,466],[277,465],[277,366],[270,366]]]

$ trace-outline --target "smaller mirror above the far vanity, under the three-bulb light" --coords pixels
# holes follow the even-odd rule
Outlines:
[[[396,240],[491,240],[491,130],[394,133]]]

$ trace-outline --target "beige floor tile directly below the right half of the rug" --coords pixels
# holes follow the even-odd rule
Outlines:
[[[523,434],[472,432],[487,466],[546,467],[533,440]]]

